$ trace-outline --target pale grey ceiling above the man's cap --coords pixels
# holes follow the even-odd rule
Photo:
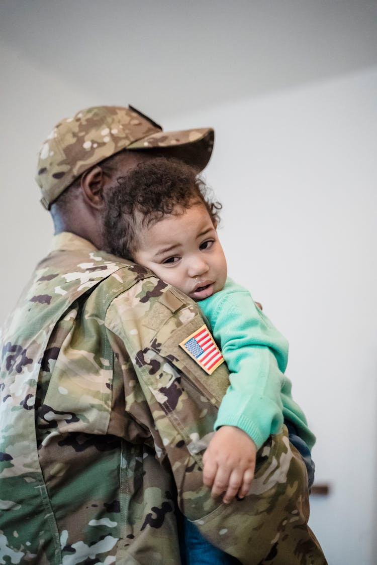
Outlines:
[[[99,103],[157,116],[373,66],[376,32],[377,2],[365,0],[0,4],[2,45],[31,66],[96,92]]]

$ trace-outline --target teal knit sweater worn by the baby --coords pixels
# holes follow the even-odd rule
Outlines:
[[[227,279],[223,290],[199,302],[227,362],[230,385],[219,408],[215,429],[235,425],[257,447],[279,433],[284,419],[297,427],[309,449],[315,436],[292,398],[284,375],[288,342],[263,314],[245,288]]]

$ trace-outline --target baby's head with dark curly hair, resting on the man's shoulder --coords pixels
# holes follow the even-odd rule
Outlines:
[[[197,169],[172,159],[140,163],[107,190],[105,249],[133,259],[194,300],[223,288],[226,259],[218,202]]]

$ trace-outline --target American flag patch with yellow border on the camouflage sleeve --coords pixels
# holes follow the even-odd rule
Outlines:
[[[224,361],[206,325],[202,325],[196,332],[181,341],[179,345],[209,375]]]

